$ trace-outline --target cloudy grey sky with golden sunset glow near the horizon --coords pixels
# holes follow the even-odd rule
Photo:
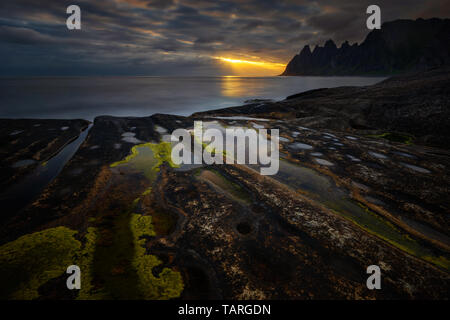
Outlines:
[[[450,17],[450,0],[1,0],[0,76],[273,76],[306,44],[363,41],[370,4]]]

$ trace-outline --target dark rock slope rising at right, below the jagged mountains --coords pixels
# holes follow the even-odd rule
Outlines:
[[[230,107],[194,116],[295,117],[306,127],[360,134],[396,131],[413,136],[418,144],[448,148],[449,101],[450,67],[442,67],[392,77],[372,86],[315,89],[262,107]]]

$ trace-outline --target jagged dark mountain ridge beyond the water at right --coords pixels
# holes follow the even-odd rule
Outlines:
[[[450,64],[450,19],[386,22],[361,44],[306,45],[283,76],[388,75]]]

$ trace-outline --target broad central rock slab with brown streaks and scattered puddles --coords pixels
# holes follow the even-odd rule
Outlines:
[[[166,297],[446,297],[448,159],[403,144],[299,128],[295,120],[222,120],[224,125],[278,127],[285,137],[282,162],[300,171],[287,166],[277,176],[263,177],[237,165],[177,169],[163,161],[155,168],[149,158],[147,170],[139,159],[133,165],[128,165],[132,159],[121,162],[141,141],[157,145],[159,132],[189,128],[193,120],[164,115],[97,118],[58,178],[4,225],[3,243],[65,226],[78,231],[86,250],[95,234],[85,267],[92,269],[91,285],[82,298],[163,298],[140,289],[143,280],[133,253],[139,252],[133,249],[136,215],[151,217],[148,235],[138,247],[157,259],[149,285],[158,286],[158,277],[169,273],[171,279],[182,279],[182,291],[180,280],[167,280],[167,287],[158,289],[172,292]],[[136,141],[128,142],[130,137]],[[291,149],[296,142],[313,149]],[[142,153],[145,147],[140,148]],[[121,164],[111,166],[117,161]],[[302,170],[312,170],[307,171],[310,180],[304,180],[308,176]],[[293,181],[286,179],[289,175]],[[304,185],[296,184],[302,179]],[[322,194],[308,185],[314,179],[329,191]],[[332,192],[360,203],[365,208],[361,212],[369,210],[375,222],[370,215],[361,220],[348,214],[363,213],[339,200],[323,198]],[[366,288],[365,271],[371,264],[383,270],[383,290]],[[38,292],[41,298],[50,293],[55,298],[64,286],[53,281]]]

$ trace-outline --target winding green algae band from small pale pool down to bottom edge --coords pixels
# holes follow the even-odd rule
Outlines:
[[[163,163],[178,167],[172,162],[171,151],[169,142],[136,145],[125,159],[111,167],[138,171],[153,182]],[[156,236],[152,216],[132,213],[138,209],[141,197],[151,192],[152,187],[148,187],[126,212],[117,214],[112,230],[104,230],[112,243],[97,246],[94,270],[96,278],[104,283],[107,298],[171,299],[179,297],[183,291],[181,274],[170,268],[155,274],[154,268],[162,262],[157,256],[146,253],[147,239]]]

